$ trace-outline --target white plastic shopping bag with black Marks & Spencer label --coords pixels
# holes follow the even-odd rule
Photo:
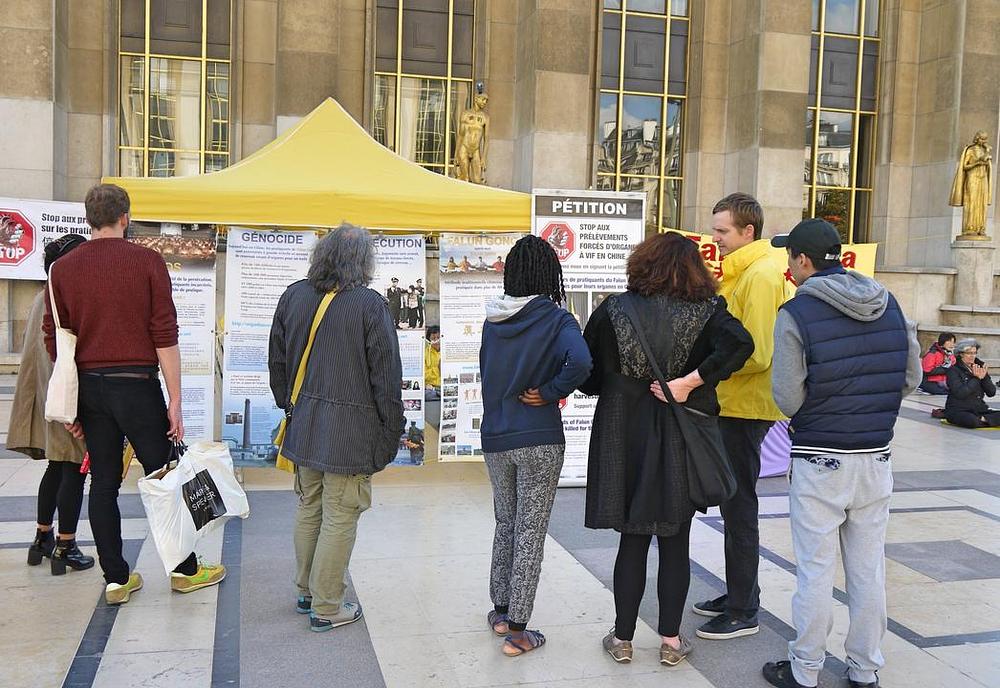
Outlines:
[[[221,442],[196,442],[176,467],[141,478],[139,494],[167,574],[207,533],[233,516],[250,515],[247,495],[233,473],[233,459]]]

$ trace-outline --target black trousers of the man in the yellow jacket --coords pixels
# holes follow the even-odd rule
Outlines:
[[[726,613],[747,621],[756,621],[760,608],[757,478],[760,445],[772,425],[767,420],[719,418],[722,441],[736,474],[736,494],[719,506],[726,531]]]

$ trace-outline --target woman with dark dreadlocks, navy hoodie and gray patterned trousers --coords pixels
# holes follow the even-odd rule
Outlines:
[[[545,643],[527,625],[566,449],[559,400],[587,379],[591,362],[576,319],[559,307],[562,268],[548,243],[518,241],[503,288],[486,304],[480,432],[496,517],[487,621],[516,657]]]

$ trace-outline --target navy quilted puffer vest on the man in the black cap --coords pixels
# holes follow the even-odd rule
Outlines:
[[[906,319],[892,294],[874,321],[806,294],[787,302],[806,354],[806,400],[792,418],[792,454],[886,451],[906,387]]]

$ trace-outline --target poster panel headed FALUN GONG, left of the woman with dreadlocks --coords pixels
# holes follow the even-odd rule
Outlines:
[[[479,345],[486,300],[503,294],[507,253],[523,234],[442,234],[441,461],[481,461]]]

